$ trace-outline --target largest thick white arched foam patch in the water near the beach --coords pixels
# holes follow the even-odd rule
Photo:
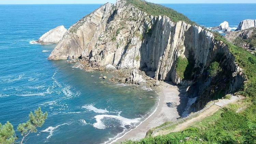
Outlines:
[[[102,119],[104,118],[114,118],[120,121],[120,127],[125,128],[125,126],[129,125],[132,126],[132,124],[138,123],[141,118],[135,118],[135,119],[129,119],[118,115],[96,115],[94,118],[96,118],[96,123],[93,124],[93,127],[97,129],[105,129],[107,126],[104,125],[102,122]]]

